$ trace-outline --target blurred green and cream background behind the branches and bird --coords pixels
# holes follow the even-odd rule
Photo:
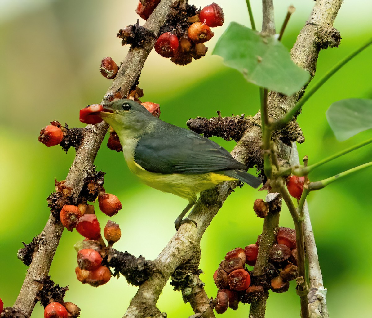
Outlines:
[[[251,1],[257,26],[261,24],[260,1]],[[196,6],[209,4],[194,1]],[[142,101],[161,105],[161,119],[186,127],[191,117],[245,113],[259,109],[257,87],[245,82],[235,70],[222,65],[211,51],[230,21],[250,26],[245,1],[221,0],[225,25],[215,28],[208,42],[207,56],[185,67],[152,52],[141,74]],[[280,29],[286,7],[294,4],[283,43],[290,49],[310,15],[313,1],[274,1],[276,26]],[[1,101],[0,140],[2,167],[0,195],[0,298],[12,306],[22,286],[26,266],[17,260],[21,242],[30,242],[44,228],[49,216],[45,198],[54,191],[54,178],[62,180],[74,158],[60,147],[47,148],[38,142],[39,131],[52,120],[82,127],[78,111],[101,101],[110,82],[98,70],[100,60],[111,56],[119,64],[127,47],[116,38],[118,29],[135,23],[137,0],[1,0]],[[322,51],[314,81],[337,61],[371,36],[372,13],[369,1],[345,1],[334,26],[340,30],[339,48]],[[141,19],[140,19],[141,20]],[[143,23],[143,20],[141,20]],[[339,143],[325,120],[328,106],[344,98],[372,98],[371,48],[358,55],[313,96],[303,109],[299,123],[306,142],[299,145],[300,158],[309,155],[309,164],[371,137],[365,131]],[[234,142],[218,140],[231,150]],[[107,136],[104,141],[106,144]],[[349,169],[371,160],[372,147],[366,146],[342,159],[317,169],[311,180]],[[116,194],[123,209],[112,219],[122,229],[116,248],[154,259],[174,234],[174,219],[186,201],[142,185],[130,174],[121,153],[100,149],[97,169],[107,172],[105,188]],[[327,303],[332,317],[367,317],[371,314],[371,177],[372,169],[341,179],[309,197],[312,225],[318,254],[328,288]],[[207,229],[202,239],[201,279],[209,297],[215,296],[212,275],[225,253],[235,247],[256,242],[262,219],[253,213],[253,201],[263,192],[250,187],[237,189]],[[232,215],[234,215],[232,217]],[[108,217],[98,212],[102,225]],[[280,224],[292,226],[283,209]],[[159,230],[161,229],[161,230]],[[76,280],[76,252],[73,245],[81,239],[77,232],[65,231],[52,263],[51,278],[68,285],[66,300],[81,308],[81,317],[122,317],[137,287],[124,278],[112,278],[94,288]],[[299,317],[299,299],[294,284],[283,294],[270,293],[266,317]],[[167,284],[158,308],[168,317],[189,317],[192,309],[180,293]],[[32,317],[42,317],[36,305]],[[238,311],[229,309],[224,317],[248,317],[249,305]]]

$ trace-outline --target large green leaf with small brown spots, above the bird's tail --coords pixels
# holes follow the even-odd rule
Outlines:
[[[292,95],[310,79],[292,60],[274,36],[261,36],[246,26],[231,22],[219,38],[213,54],[243,73],[248,82],[269,90]]]

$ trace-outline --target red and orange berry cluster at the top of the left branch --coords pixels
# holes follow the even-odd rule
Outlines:
[[[147,20],[158,0],[147,0],[145,5],[138,3],[136,12]],[[155,42],[155,52],[163,57],[171,58],[173,63],[185,65],[205,55],[207,47],[203,44],[209,41],[214,33],[211,28],[224,23],[224,13],[217,3],[212,3],[201,10],[186,4],[175,6],[177,14],[170,16],[166,25],[160,30]],[[177,18],[175,18],[177,16]]]

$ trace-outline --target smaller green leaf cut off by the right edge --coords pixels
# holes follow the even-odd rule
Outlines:
[[[350,98],[334,102],[325,116],[337,140],[344,141],[372,128],[372,99]]]

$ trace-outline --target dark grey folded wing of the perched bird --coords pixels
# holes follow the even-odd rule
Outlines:
[[[245,169],[219,144],[206,137],[163,121],[137,144],[134,160],[142,168],[161,174]]]

